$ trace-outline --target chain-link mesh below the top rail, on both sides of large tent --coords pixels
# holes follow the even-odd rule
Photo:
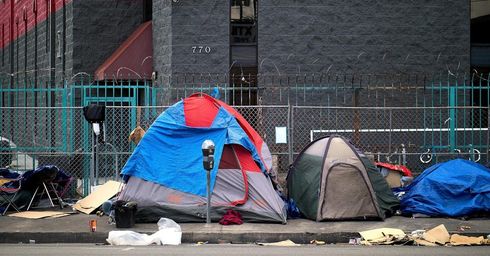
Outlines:
[[[135,145],[128,136],[136,126],[147,130],[167,107],[112,106],[106,109],[104,135],[94,148],[93,132],[82,108],[1,108],[2,163],[31,170],[54,164],[77,182],[71,196],[88,186],[93,151],[96,183],[119,179]],[[278,156],[280,173],[309,142],[340,134],[383,162],[403,163],[415,173],[455,157],[489,163],[489,111],[481,107],[351,108],[316,106],[236,106]],[[136,120],[136,122],[132,121]],[[277,138],[284,127],[286,138]],[[284,140],[285,139],[285,140]],[[11,158],[11,159],[10,159]],[[10,159],[10,161],[9,161]]]

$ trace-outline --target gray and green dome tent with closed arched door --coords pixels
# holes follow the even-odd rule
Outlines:
[[[303,149],[291,165],[287,186],[301,213],[316,221],[385,219],[399,207],[374,163],[337,135]]]

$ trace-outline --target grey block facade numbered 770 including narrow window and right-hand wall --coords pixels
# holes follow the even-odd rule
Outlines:
[[[155,69],[468,72],[469,1],[154,1]]]

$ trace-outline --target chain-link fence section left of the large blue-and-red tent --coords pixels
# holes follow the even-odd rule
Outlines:
[[[95,183],[120,179],[119,172],[135,148],[128,140],[130,132],[135,125],[147,130],[165,109],[107,107],[103,135],[94,145],[81,107],[4,107],[0,139],[8,143],[0,148],[1,162],[17,171],[56,165],[75,177],[71,196],[82,196],[88,191],[93,152],[98,167]]]

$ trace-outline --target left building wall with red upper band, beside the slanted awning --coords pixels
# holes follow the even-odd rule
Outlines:
[[[63,81],[77,74],[75,78],[93,76],[97,67],[145,21],[143,3],[1,1],[1,78],[11,78],[17,85],[36,81],[36,86],[51,87],[63,86]]]

